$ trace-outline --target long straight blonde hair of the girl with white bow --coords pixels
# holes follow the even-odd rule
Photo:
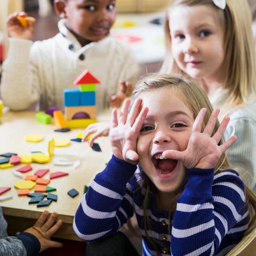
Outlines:
[[[251,12],[245,0],[226,0],[225,10],[215,6],[212,0],[172,0],[170,8],[177,5],[212,7],[219,20],[223,20],[225,60],[225,86],[228,90],[226,107],[232,108],[246,103],[249,95],[256,93],[254,62],[254,40]],[[165,74],[182,74],[172,56],[169,12],[164,21],[166,57],[160,70]]]

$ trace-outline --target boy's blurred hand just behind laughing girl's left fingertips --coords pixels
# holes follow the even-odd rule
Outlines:
[[[120,81],[119,92],[110,98],[110,107],[119,108],[122,106],[125,98],[130,97],[132,93],[132,84],[127,81]]]

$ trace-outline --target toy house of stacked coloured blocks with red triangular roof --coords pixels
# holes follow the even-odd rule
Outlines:
[[[86,127],[95,123],[97,115],[96,84],[100,81],[87,69],[74,81],[79,89],[64,90],[65,118],[68,127]]]

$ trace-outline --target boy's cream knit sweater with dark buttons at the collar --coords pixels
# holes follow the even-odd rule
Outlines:
[[[44,41],[10,38],[1,93],[12,110],[26,109],[37,101],[41,109],[63,109],[63,90],[78,89],[73,82],[85,69],[101,82],[97,86],[98,113],[109,106],[120,79],[135,81],[138,67],[129,46],[107,36],[81,47],[64,23],[60,20],[60,33]]]

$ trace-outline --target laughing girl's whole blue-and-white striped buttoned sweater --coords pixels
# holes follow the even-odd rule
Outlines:
[[[75,215],[73,227],[78,237],[96,241],[111,236],[135,213],[143,255],[156,255],[143,228],[145,188],[140,173],[134,175],[136,169],[113,156],[95,177]],[[158,252],[220,256],[241,241],[249,223],[243,181],[232,170],[217,175],[213,172],[187,170],[187,183],[178,198],[171,227],[169,212],[158,210],[155,196],[150,195],[147,214],[152,230],[147,233],[157,241]]]

